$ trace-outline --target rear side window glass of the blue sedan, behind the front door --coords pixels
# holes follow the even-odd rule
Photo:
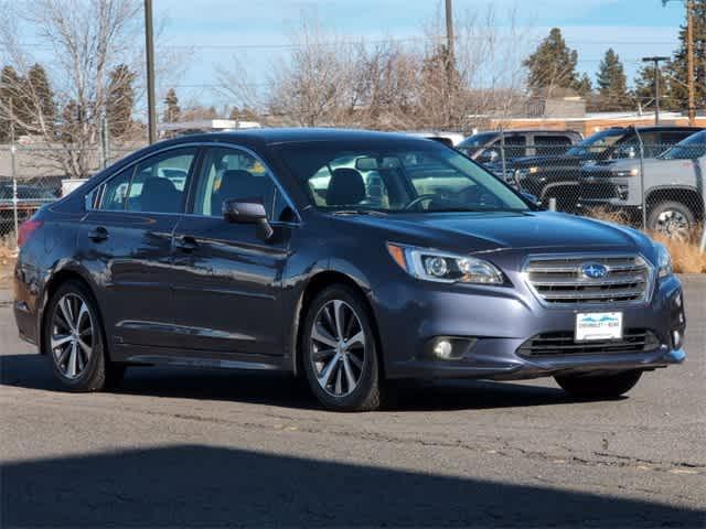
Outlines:
[[[146,213],[182,210],[195,149],[171,150],[131,166],[105,184],[99,209]]]

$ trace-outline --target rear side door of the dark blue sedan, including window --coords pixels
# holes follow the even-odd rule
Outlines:
[[[79,247],[86,266],[101,272],[103,317],[113,344],[175,343],[172,234],[185,207],[185,177],[195,159],[196,148],[160,152],[96,190],[94,207],[82,223]]]

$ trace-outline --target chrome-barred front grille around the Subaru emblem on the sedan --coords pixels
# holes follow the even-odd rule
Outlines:
[[[598,263],[608,273],[591,279],[582,267]],[[525,266],[528,283],[547,305],[643,303],[650,291],[650,267],[640,256],[534,257]]]

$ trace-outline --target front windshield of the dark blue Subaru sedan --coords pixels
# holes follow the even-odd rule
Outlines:
[[[505,184],[434,142],[279,147],[317,208],[344,213],[527,210]]]

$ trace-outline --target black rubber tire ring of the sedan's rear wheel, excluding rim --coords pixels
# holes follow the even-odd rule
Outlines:
[[[88,360],[88,366],[83,373],[74,379],[65,377],[54,358],[54,353],[51,349],[51,332],[52,332],[52,317],[56,310],[56,304],[66,294],[77,294],[88,306],[90,311],[90,317],[94,325],[94,343],[93,354]],[[54,376],[66,389],[71,391],[95,391],[103,389],[106,379],[106,358],[105,358],[105,338],[103,334],[103,321],[100,320],[100,312],[98,311],[98,304],[96,303],[92,292],[78,281],[67,281],[63,283],[52,295],[52,299],[46,305],[46,316],[44,317],[44,328],[42,330],[42,344],[44,352],[49,360],[52,364]]]

